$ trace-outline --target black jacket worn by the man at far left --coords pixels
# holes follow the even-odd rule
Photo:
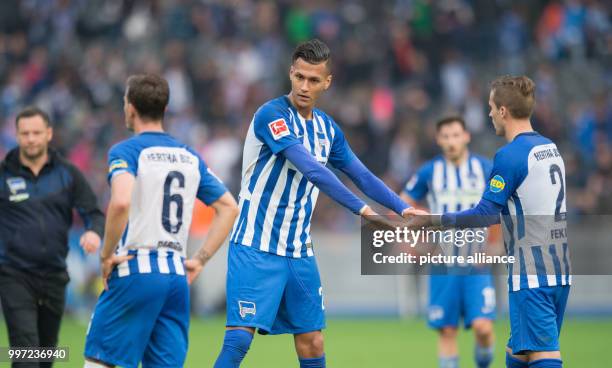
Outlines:
[[[66,269],[75,208],[100,237],[104,215],[83,174],[56,151],[38,176],[19,161],[18,148],[0,163],[0,265],[44,275]]]

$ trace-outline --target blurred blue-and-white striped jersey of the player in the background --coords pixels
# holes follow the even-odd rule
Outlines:
[[[485,191],[491,167],[491,161],[480,155],[470,153],[468,159],[460,165],[438,155],[413,175],[404,187],[404,192],[416,201],[426,198],[432,213],[473,208]],[[452,255],[464,257],[485,250],[482,249],[482,243],[469,243],[462,247],[453,244],[441,245],[447,245],[445,250],[452,252]]]

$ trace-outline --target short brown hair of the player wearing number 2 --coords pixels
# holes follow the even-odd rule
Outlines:
[[[504,75],[491,83],[493,102],[515,119],[528,119],[535,106],[535,83],[527,76]]]

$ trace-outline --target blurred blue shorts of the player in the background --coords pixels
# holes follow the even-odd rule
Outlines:
[[[495,319],[495,287],[491,274],[431,275],[428,324],[431,328],[465,328],[478,318]]]

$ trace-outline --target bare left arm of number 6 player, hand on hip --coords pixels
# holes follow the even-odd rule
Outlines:
[[[127,226],[134,188],[134,176],[128,172],[115,175],[111,181],[111,199],[106,211],[106,226],[104,227],[104,246],[100,252],[102,264],[102,281],[108,290],[107,280],[113,267],[133,256],[117,256],[115,249]]]

